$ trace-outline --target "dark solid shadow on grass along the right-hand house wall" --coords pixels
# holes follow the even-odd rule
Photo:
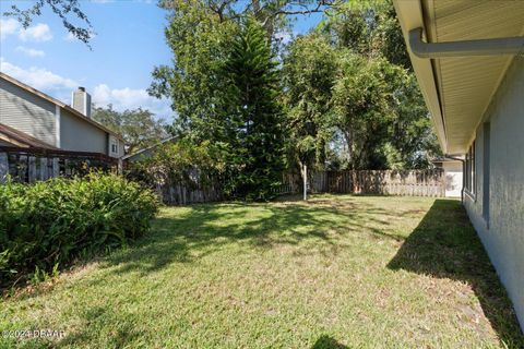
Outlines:
[[[511,302],[458,201],[434,201],[388,267],[467,282],[499,339],[524,348]]]

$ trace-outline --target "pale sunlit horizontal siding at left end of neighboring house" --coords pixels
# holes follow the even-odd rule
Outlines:
[[[55,104],[0,79],[0,122],[56,146]]]

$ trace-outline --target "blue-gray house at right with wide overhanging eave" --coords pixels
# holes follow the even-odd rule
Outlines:
[[[464,206],[524,329],[524,1],[394,5],[440,145],[466,156]]]

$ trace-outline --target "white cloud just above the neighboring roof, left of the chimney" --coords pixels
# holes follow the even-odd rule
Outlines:
[[[44,92],[63,93],[79,86],[75,81],[57,75],[44,68],[23,69],[5,61],[3,58],[0,58],[0,71]]]

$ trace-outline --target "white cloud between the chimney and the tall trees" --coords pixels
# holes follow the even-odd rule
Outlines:
[[[100,84],[93,91],[93,103],[99,107],[111,104],[119,111],[142,107],[158,117],[168,118],[172,115],[168,100],[152,97],[145,89],[140,88],[111,89],[108,85]]]

